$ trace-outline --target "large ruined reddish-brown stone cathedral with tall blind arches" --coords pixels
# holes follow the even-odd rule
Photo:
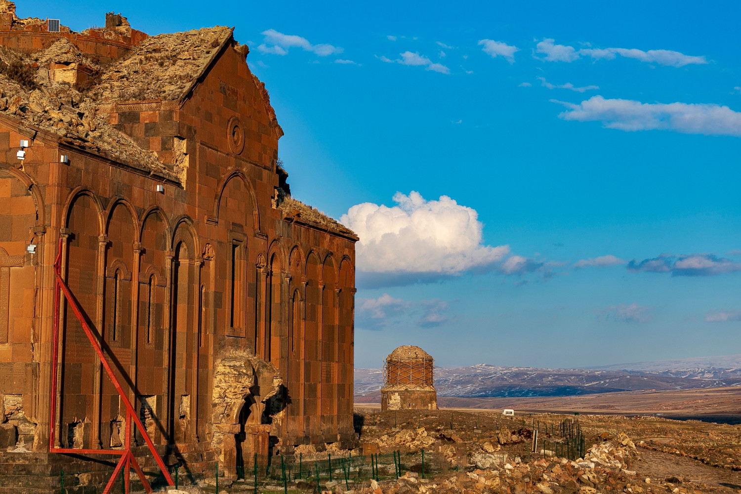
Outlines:
[[[50,430],[122,447],[119,395],[64,300],[53,347],[59,245],[163,456],[233,476],[253,453],[352,447],[358,238],[290,196],[247,46],[114,14],[76,33],[9,1],[0,44],[0,472],[60,461]]]

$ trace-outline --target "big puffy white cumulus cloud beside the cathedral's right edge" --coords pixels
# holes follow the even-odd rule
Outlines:
[[[340,221],[355,231],[358,270],[422,278],[496,269],[505,274],[539,270],[542,263],[511,256],[507,245],[482,243],[478,213],[448,196],[423,198],[396,193],[395,206],[365,202],[350,207]]]

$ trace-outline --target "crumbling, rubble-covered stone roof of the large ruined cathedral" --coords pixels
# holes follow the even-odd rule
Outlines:
[[[9,0],[0,0],[0,18],[0,23],[2,19],[10,23],[0,30],[46,32],[46,21],[19,19],[15,4]],[[106,24],[109,20],[110,26],[82,33],[61,26],[59,39],[41,50],[0,46],[0,124],[19,121],[69,146],[181,182],[177,165],[162,164],[155,152],[140,147],[113,127],[110,114],[101,107],[125,101],[182,103],[227,45],[245,56],[249,50],[234,41],[230,27],[147,36],[131,29],[125,17],[111,13],[106,16]],[[116,41],[126,47],[126,54],[110,61],[84,53],[72,41],[78,35],[93,42]],[[51,75],[53,70],[67,68],[82,70],[88,74],[87,81],[70,84],[56,81]],[[265,102],[270,127],[279,138],[283,130],[270,106],[265,84],[252,77]],[[348,228],[300,201],[289,197],[281,209],[289,221],[356,239]]]

